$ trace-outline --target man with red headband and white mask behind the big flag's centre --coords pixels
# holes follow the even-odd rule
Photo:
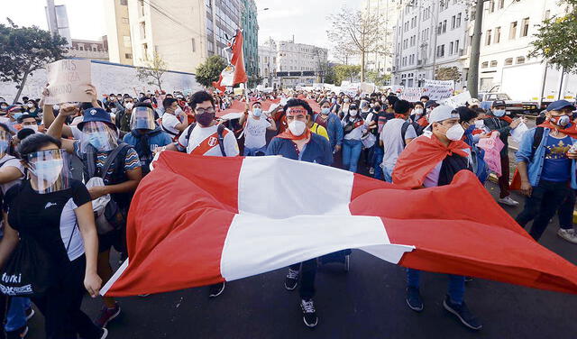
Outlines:
[[[333,163],[333,150],[325,137],[311,133],[307,123],[313,115],[313,109],[307,101],[289,99],[283,111],[287,116],[289,129],[277,135],[270,141],[267,155],[281,155],[292,160],[315,162],[325,166]],[[295,263],[289,267],[285,278],[285,289],[297,289],[300,282],[300,306],[303,320],[308,327],[318,323],[315,297],[316,259]],[[299,281],[300,278],[300,281]]]

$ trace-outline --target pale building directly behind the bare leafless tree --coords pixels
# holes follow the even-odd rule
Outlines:
[[[393,50],[395,26],[398,20],[398,9],[401,0],[364,0],[362,11],[364,14],[377,15],[382,20],[380,27],[380,45],[383,47],[379,52],[368,53],[366,56],[366,69],[368,71],[389,74],[393,66]]]

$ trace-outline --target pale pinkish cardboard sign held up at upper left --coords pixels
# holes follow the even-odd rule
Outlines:
[[[46,65],[46,71],[50,84],[50,95],[44,99],[46,105],[92,101],[86,94],[92,82],[90,60],[58,60]]]

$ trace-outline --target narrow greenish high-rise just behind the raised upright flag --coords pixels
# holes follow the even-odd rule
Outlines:
[[[242,0],[244,69],[249,78],[259,77],[259,23],[254,0]]]

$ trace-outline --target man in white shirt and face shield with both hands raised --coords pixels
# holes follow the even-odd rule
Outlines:
[[[252,103],[252,112],[249,115],[248,105],[241,116],[239,124],[244,127],[244,156],[253,156],[257,153],[264,154],[267,151],[267,130],[276,131],[277,124],[265,113],[262,117],[262,104],[260,101]],[[246,123],[246,124],[245,124]]]

